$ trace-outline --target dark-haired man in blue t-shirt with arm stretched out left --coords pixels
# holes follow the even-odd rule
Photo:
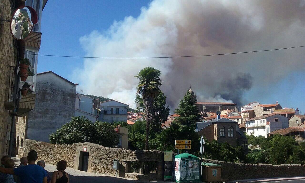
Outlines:
[[[28,165],[15,169],[0,167],[0,172],[19,176],[21,183],[47,183],[47,173],[45,172],[45,169],[35,164],[37,159],[37,152],[35,150],[31,150],[27,154]]]

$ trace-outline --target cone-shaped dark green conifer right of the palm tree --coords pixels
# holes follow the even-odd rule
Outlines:
[[[178,124],[196,127],[197,119],[200,118],[196,102],[196,97],[190,91],[186,92],[175,111],[180,115],[175,118]]]

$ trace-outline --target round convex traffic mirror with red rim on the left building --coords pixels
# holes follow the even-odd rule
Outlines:
[[[11,19],[12,35],[17,40],[23,40],[27,38],[37,21],[37,13],[32,7],[20,6],[13,13]]]

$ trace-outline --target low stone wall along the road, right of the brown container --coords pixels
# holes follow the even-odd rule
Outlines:
[[[222,165],[221,181],[305,175],[305,165],[246,164],[209,159],[203,161]]]

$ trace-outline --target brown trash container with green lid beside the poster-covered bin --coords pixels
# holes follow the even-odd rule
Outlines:
[[[221,165],[214,163],[202,163],[202,181],[204,182],[221,182]]]

